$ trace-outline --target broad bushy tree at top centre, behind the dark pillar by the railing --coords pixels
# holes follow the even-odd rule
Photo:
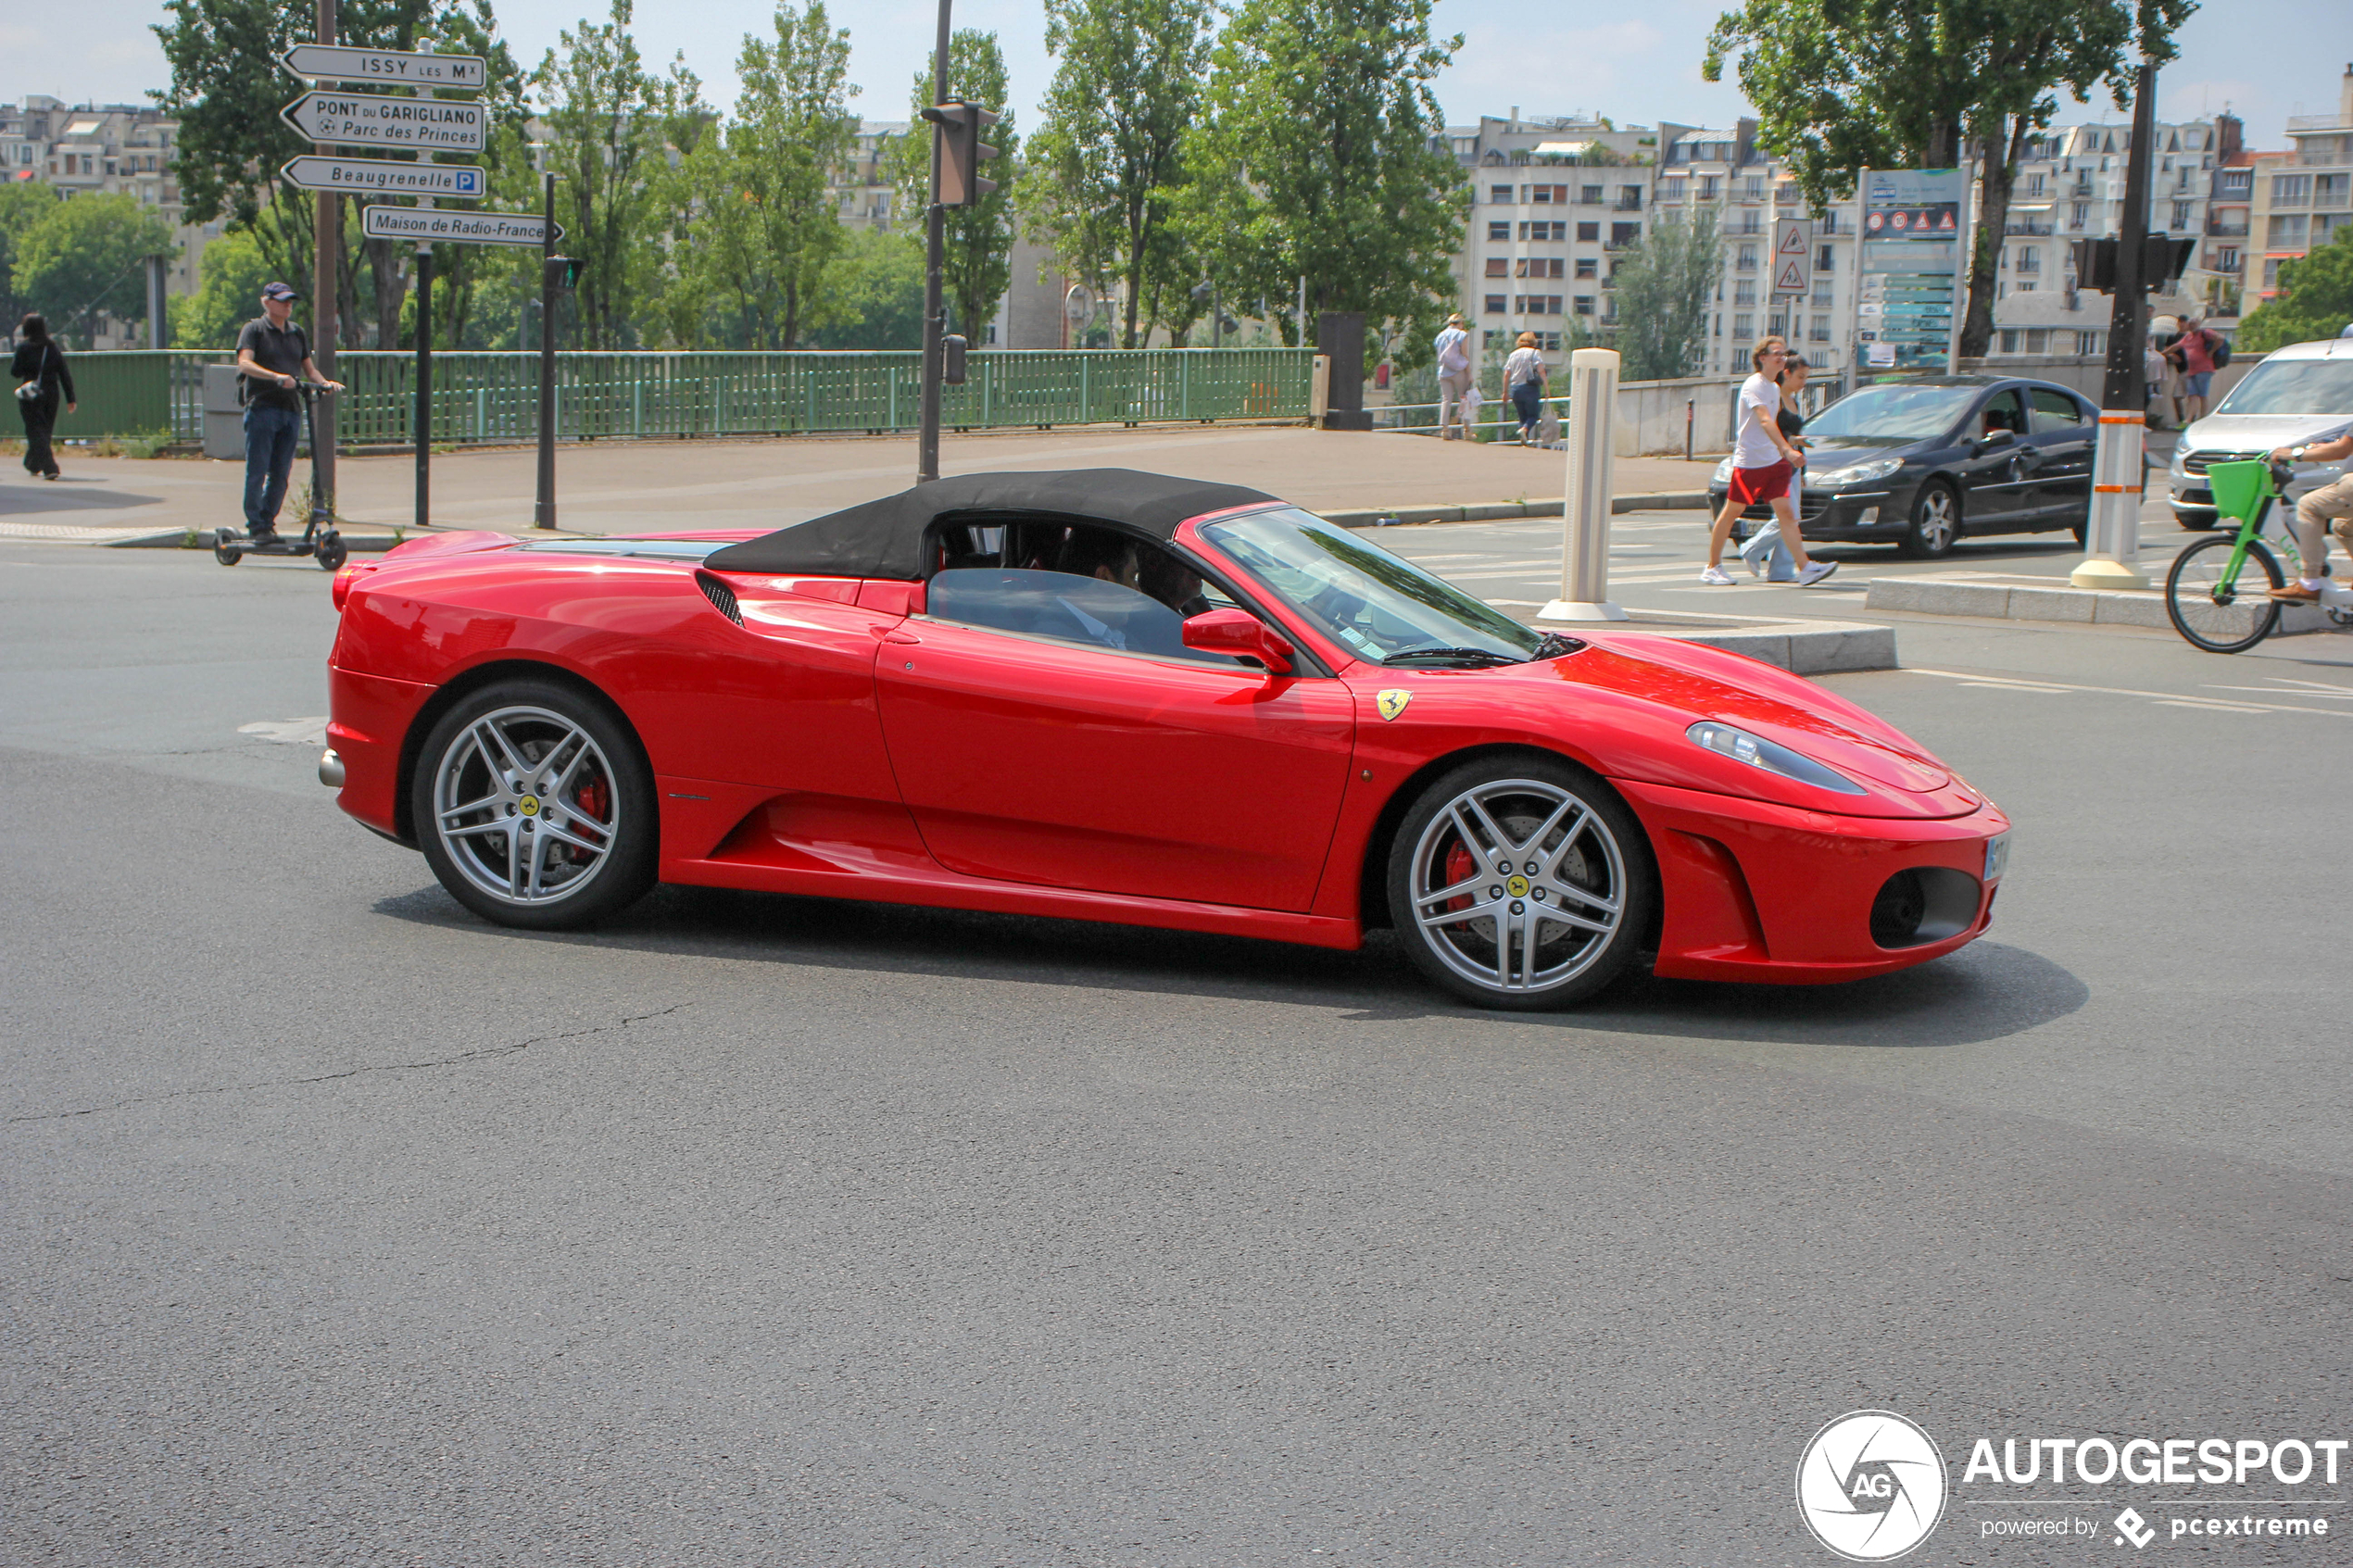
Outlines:
[[[1242,0],[1212,49],[1202,118],[1184,143],[1184,233],[1228,299],[1264,296],[1289,343],[1308,315],[1360,310],[1407,327],[1400,362],[1457,303],[1471,190],[1433,146],[1431,82],[1461,38],[1431,40],[1431,0]]]

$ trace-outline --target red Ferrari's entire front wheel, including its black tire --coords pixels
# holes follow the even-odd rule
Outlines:
[[[1480,809],[1461,811],[1466,797]],[[1431,896],[1473,872],[1494,882]],[[1447,771],[1407,809],[1388,851],[1388,910],[1414,966],[1464,1001],[1506,1011],[1574,1006],[1617,980],[1649,938],[1657,886],[1633,811],[1560,757]],[[1464,919],[1442,919],[1457,907]]]

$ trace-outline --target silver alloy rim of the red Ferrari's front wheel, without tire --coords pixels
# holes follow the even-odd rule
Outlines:
[[[1626,919],[1626,858],[1609,823],[1539,778],[1494,778],[1440,806],[1409,877],[1431,952],[1482,990],[1565,985]]]

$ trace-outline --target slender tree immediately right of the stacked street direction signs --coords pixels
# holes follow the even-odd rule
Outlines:
[[[605,24],[558,33],[532,73],[548,134],[565,249],[581,261],[576,294],[584,348],[628,348],[640,301],[661,268],[661,195],[668,148],[689,148],[708,110],[685,59],[659,78],[645,68],[628,26],[631,0],[612,0]]]

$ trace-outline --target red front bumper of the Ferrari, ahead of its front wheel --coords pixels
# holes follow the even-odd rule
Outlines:
[[[1951,818],[1857,818],[1734,795],[1612,780],[1659,858],[1666,914],[1654,973],[1673,980],[1826,985],[1894,973],[1984,936],[2000,882],[1986,842],[2009,830],[1993,802]],[[1873,903],[1920,867],[1974,884],[1974,919],[1937,940],[1882,947]],[[1958,922],[1955,922],[1958,924]]]

